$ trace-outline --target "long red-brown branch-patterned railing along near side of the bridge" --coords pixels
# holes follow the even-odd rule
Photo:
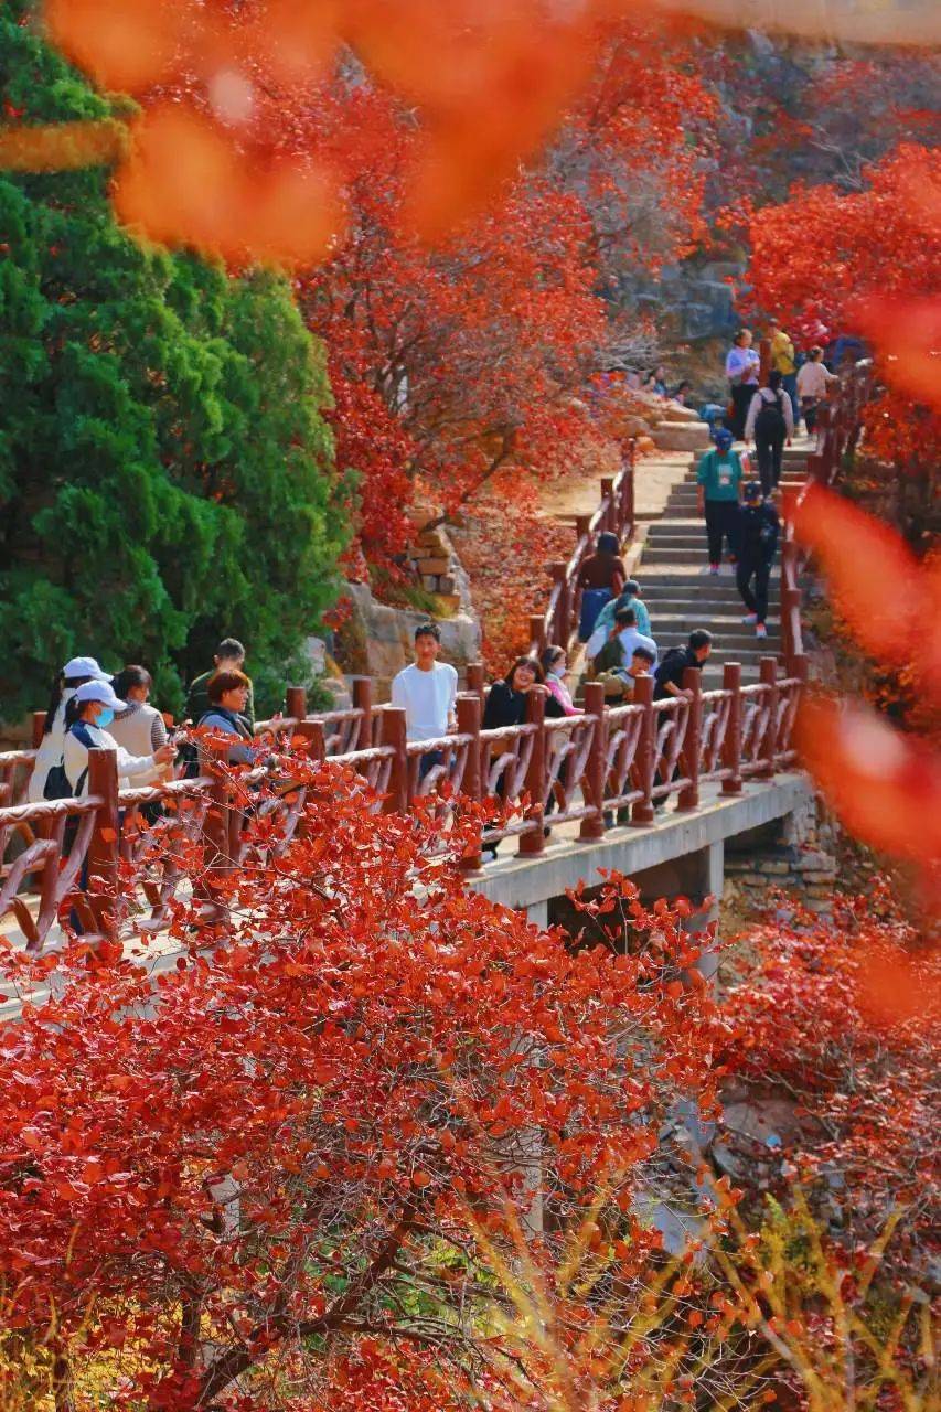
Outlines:
[[[547,825],[578,823],[579,839],[600,839],[622,810],[633,826],[649,826],[671,796],[680,810],[699,808],[706,781],[733,795],[745,779],[770,779],[790,767],[805,675],[800,659],[781,679],[767,657],[760,682],[743,686],[740,668],[728,664],[722,686],[702,692],[699,672],[688,669],[682,698],[654,702],[653,679],[643,678],[634,702],[612,709],[602,686],[589,683],[584,713],[551,720],[545,693],[535,689],[527,719],[503,730],[480,729],[482,695],[472,690],[458,698],[456,731],[424,741],[407,741],[404,712],[384,706],[370,713],[370,744],[331,761],[362,779],[365,808],[401,813],[421,801],[437,809],[442,836],[455,796],[485,808],[490,801],[493,819],[480,830],[480,847],[517,837],[523,856],[538,856]],[[302,746],[305,760],[328,758],[321,717],[274,726],[281,748]],[[21,754],[0,755],[0,775]],[[290,774],[290,760],[278,768]],[[284,788],[251,803],[246,782],[264,774],[208,770],[196,779],[119,791],[113,753],[92,751],[86,798],[0,808],[0,918],[13,912],[34,952],[66,914],[89,938],[107,938],[120,922],[119,894],[122,915],[133,911],[140,931],[167,925],[194,843],[203,846],[212,871],[226,873],[244,860],[246,810],[274,816],[277,827],[266,832],[270,851],[294,836],[308,784],[283,778]],[[164,812],[143,827],[147,805]],[[133,867],[119,888],[122,860]],[[479,851],[463,866],[478,868]],[[32,907],[28,894],[38,898]]]

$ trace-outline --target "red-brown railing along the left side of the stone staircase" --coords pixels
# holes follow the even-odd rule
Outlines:
[[[575,520],[575,551],[568,563],[548,565],[552,579],[548,603],[544,613],[530,617],[530,651],[538,657],[543,648],[552,642],[569,648],[578,628],[582,590],[578,578],[585,559],[595,548],[599,534],[609,531],[619,541],[629,539],[634,532],[634,466],[637,445],[633,438],[625,442],[620,472],[600,481],[598,510],[592,515],[578,515]]]

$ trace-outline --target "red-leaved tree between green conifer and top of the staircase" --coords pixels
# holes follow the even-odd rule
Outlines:
[[[292,112],[291,143],[339,172],[352,212],[346,241],[298,291],[341,397],[366,384],[376,411],[374,448],[355,425],[346,448],[342,408],[335,418],[342,460],[360,472],[369,561],[394,552],[381,507],[401,504],[406,477],[446,513],[497,477],[503,497],[524,498],[526,480],[575,446],[610,449],[584,397],[625,336],[602,289],[626,263],[678,257],[698,230],[711,100],[684,56],[656,31],[606,30],[543,168],[434,250],[403,219],[424,137],[397,99],[341,73]]]

